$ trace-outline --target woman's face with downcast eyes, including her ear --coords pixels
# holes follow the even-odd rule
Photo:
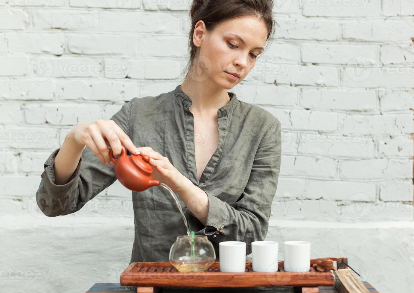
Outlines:
[[[233,88],[255,65],[266,38],[265,21],[253,16],[227,20],[213,31],[207,31],[204,22],[198,22],[193,38],[195,46],[200,47],[197,77],[199,80],[211,79],[224,89]]]

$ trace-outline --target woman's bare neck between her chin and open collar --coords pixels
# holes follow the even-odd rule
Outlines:
[[[226,89],[214,84],[210,79],[197,81],[190,73],[185,77],[181,90],[193,101],[191,112],[200,115],[217,115],[219,108],[230,102]]]

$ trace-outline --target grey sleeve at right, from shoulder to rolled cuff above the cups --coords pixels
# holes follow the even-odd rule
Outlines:
[[[216,233],[215,238],[209,238],[216,243],[246,242],[246,255],[250,254],[250,243],[264,240],[267,235],[279,178],[281,151],[282,131],[276,118],[260,141],[248,183],[239,199],[231,206],[206,192],[209,200],[206,224],[195,234],[208,236]]]

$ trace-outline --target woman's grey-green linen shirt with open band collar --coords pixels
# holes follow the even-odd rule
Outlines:
[[[132,98],[112,116],[135,146],[151,146],[204,192],[209,210],[204,226],[178,196],[195,235],[206,235],[219,261],[221,241],[251,242],[267,235],[272,200],[276,193],[281,157],[281,125],[267,110],[239,101],[217,110],[219,143],[197,180],[194,116],[191,99],[178,85],[158,96]],[[115,182],[113,165],[105,165],[87,146],[70,181],[55,184],[53,163],[60,148],[44,163],[36,192],[39,208],[47,216],[67,215]],[[169,250],[179,235],[187,235],[176,202],[162,186],[132,192],[135,239],[131,262],[169,262]],[[218,232],[218,233],[217,233]]]

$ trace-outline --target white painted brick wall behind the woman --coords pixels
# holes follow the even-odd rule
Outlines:
[[[58,218],[39,211],[35,192],[74,125],[175,88],[190,2],[0,0],[3,290],[84,292],[118,281],[133,241],[130,191],[116,182]],[[347,256],[378,291],[410,292],[414,1],[275,4],[272,46],[232,89],[282,123],[267,239],[309,240],[313,258]],[[17,280],[18,270],[50,276]]]

